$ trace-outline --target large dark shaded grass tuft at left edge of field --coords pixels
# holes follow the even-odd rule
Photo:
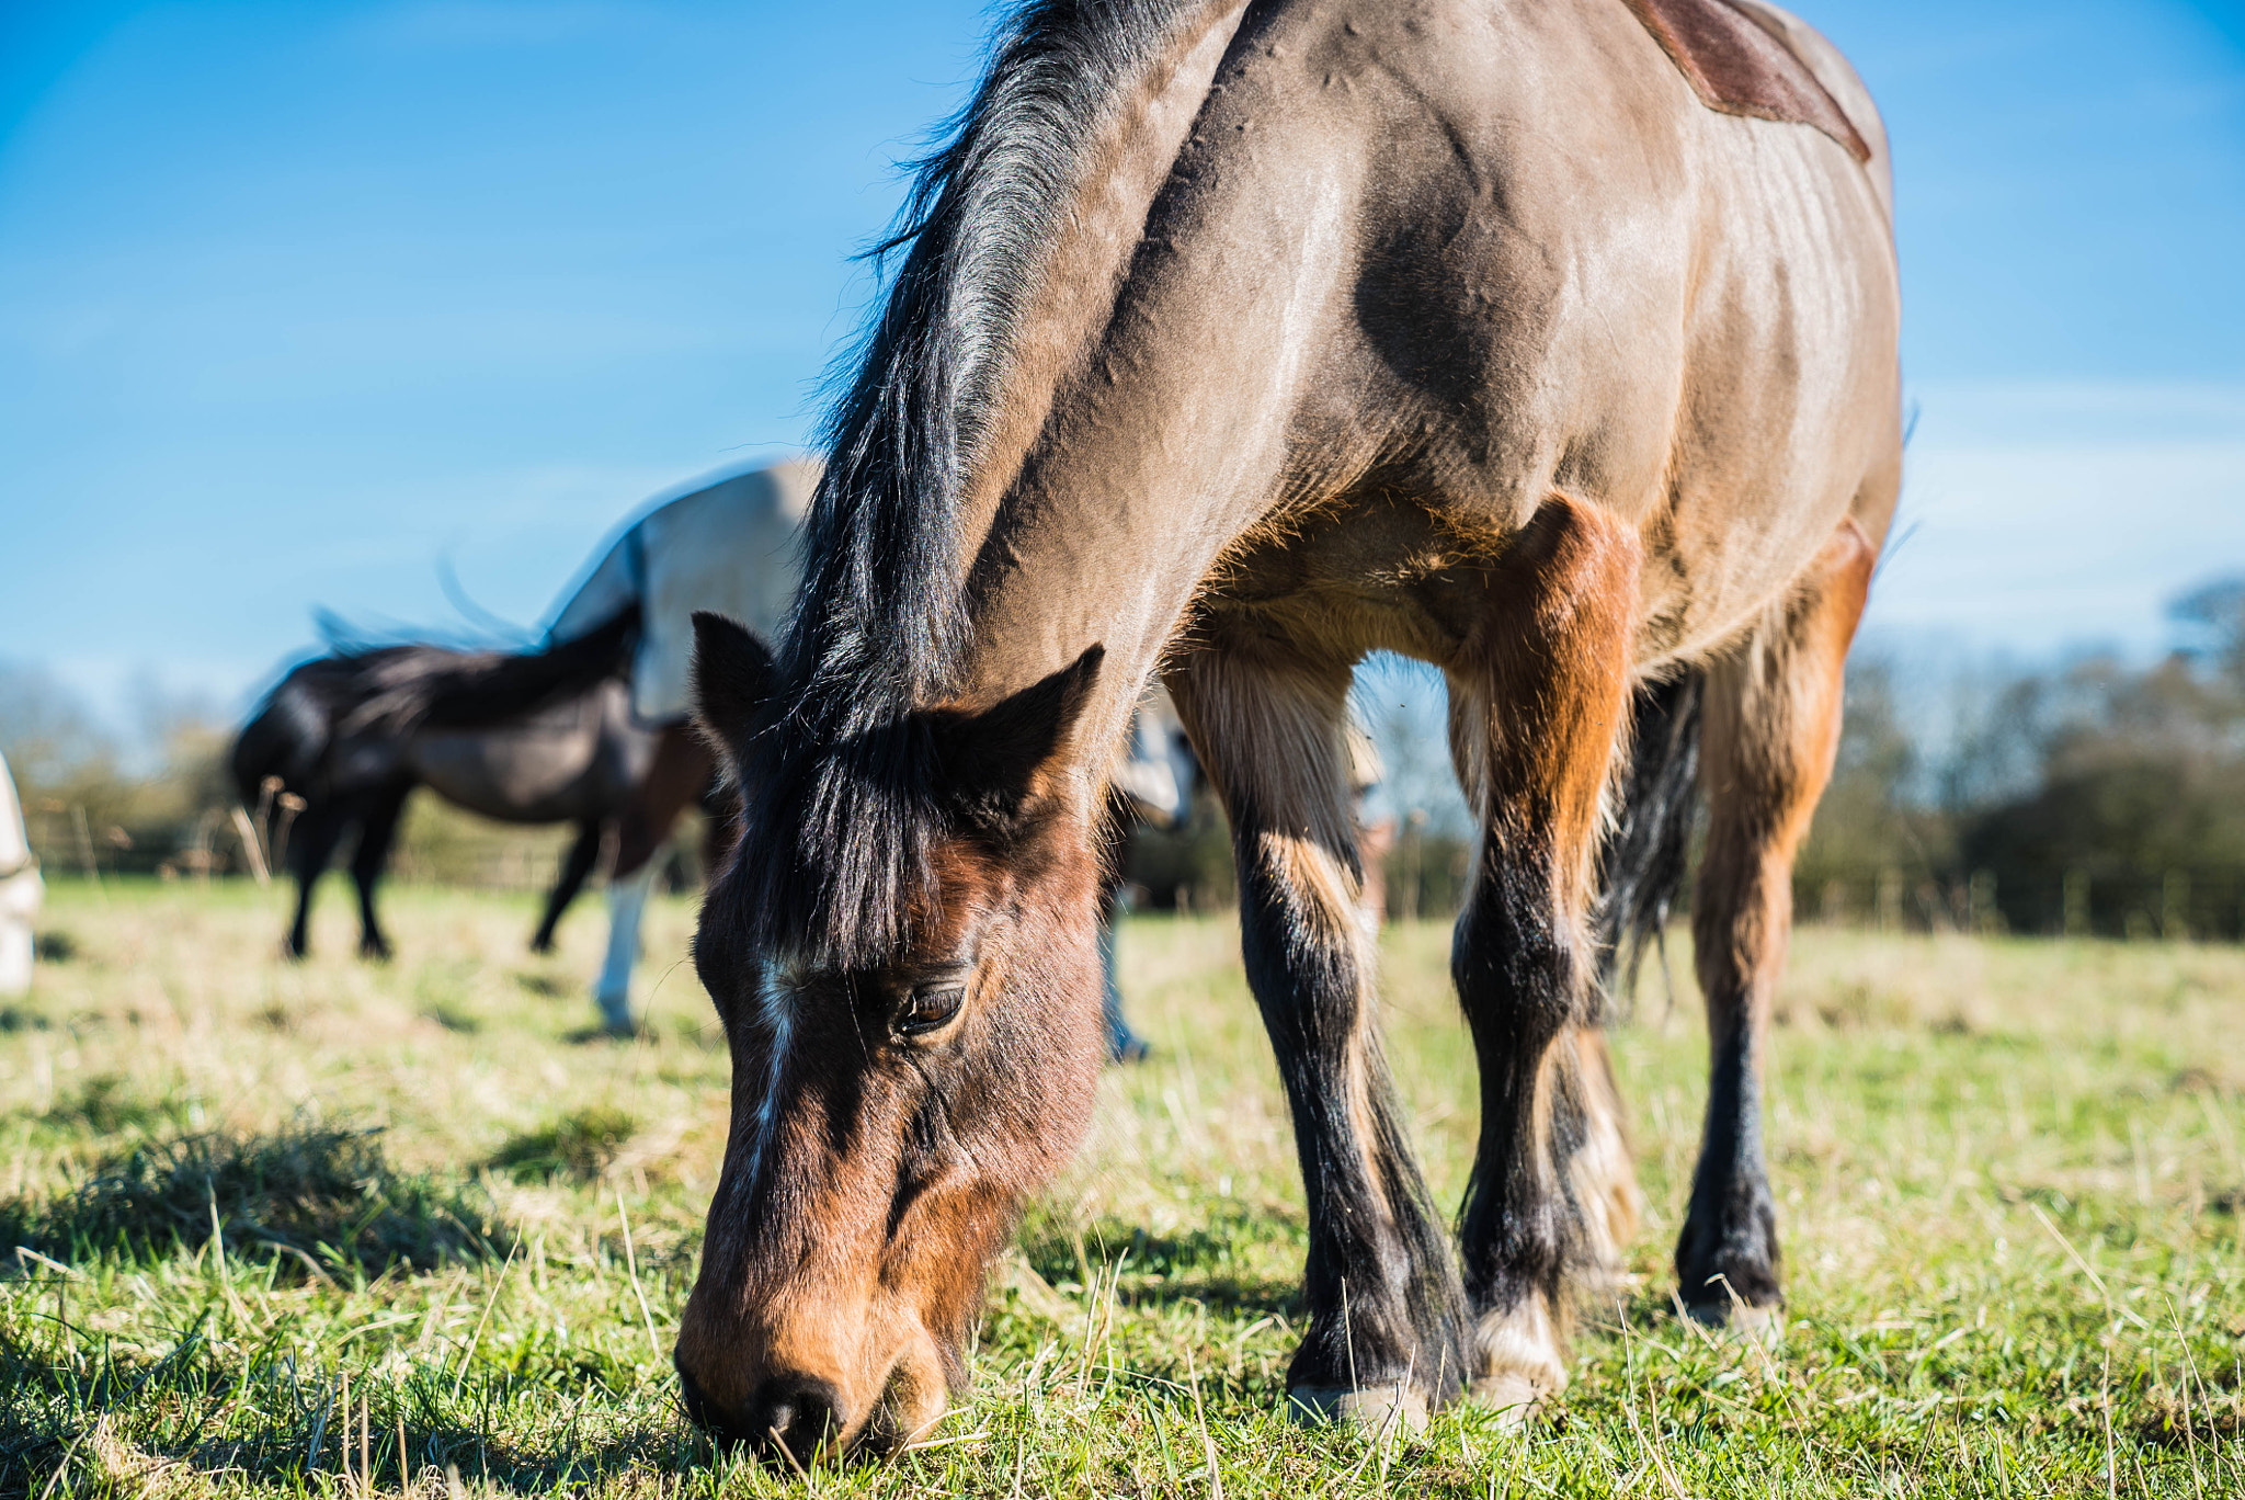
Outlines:
[[[155,1257],[209,1244],[213,1224],[227,1255],[281,1260],[283,1275],[427,1271],[503,1253],[510,1242],[489,1199],[395,1170],[379,1132],[292,1125],[110,1152],[76,1192],[0,1204],[0,1251],[27,1246],[58,1262]]]

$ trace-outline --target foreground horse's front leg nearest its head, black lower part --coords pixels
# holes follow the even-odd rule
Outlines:
[[[1309,1199],[1309,1327],[1286,1372],[1289,1412],[1419,1426],[1464,1385],[1466,1309],[1378,1049],[1349,813],[1349,665],[1219,640],[1179,662],[1170,689],[1233,822],[1248,986]]]

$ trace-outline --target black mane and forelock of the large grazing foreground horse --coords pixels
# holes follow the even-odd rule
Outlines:
[[[965,647],[959,494],[1039,267],[1125,90],[1161,56],[1185,0],[1028,0],[947,139],[916,166],[880,317],[842,371],[804,584],[757,728],[757,797],[739,876],[766,943],[828,963],[902,939],[945,826],[916,707]]]

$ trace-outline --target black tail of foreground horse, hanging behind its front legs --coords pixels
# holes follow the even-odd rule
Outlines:
[[[1699,811],[1699,701],[1706,669],[1646,683],[1632,703],[1637,754],[1616,786],[1598,903],[1598,979],[1632,993],[1648,945],[1659,945],[1690,858]]]

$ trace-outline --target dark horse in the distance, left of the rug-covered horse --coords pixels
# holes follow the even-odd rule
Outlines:
[[[653,734],[631,721],[620,676],[631,626],[620,615],[599,635],[523,656],[431,644],[339,651],[281,678],[236,737],[231,768],[242,806],[263,811],[296,876],[287,952],[310,952],[312,891],[357,831],[359,952],[391,957],[375,887],[415,786],[498,822],[577,824],[530,939],[550,952],[604,833],[635,808],[653,763]],[[453,728],[460,716],[501,723]]]

